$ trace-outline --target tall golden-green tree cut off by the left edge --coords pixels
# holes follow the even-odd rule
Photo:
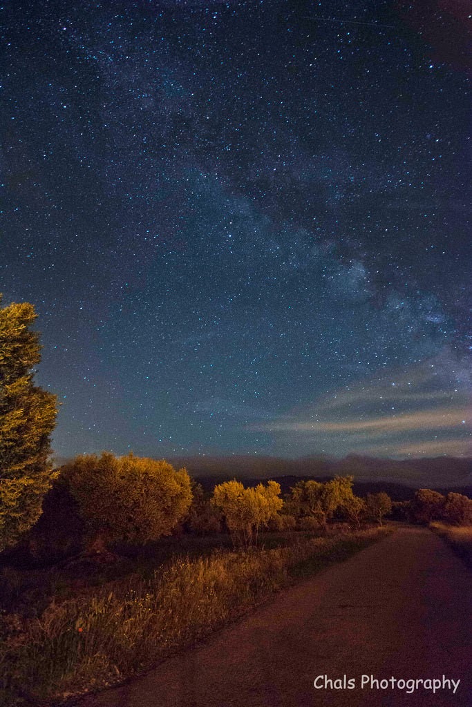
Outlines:
[[[33,380],[41,358],[40,335],[31,331],[36,316],[28,302],[0,308],[0,550],[35,524],[57,476],[50,462],[56,397]]]

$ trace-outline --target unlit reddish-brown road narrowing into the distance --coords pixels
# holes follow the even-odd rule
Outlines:
[[[472,705],[471,574],[427,529],[395,534],[284,590],[144,677],[81,707]],[[318,676],[354,689],[320,689]],[[362,675],[369,682],[361,687]],[[382,689],[370,682],[388,680]],[[460,679],[453,694],[445,679]],[[410,679],[438,679],[432,689]],[[408,686],[410,685],[410,686]],[[428,683],[426,683],[428,685]],[[400,689],[399,687],[400,686]],[[417,689],[418,688],[418,689]]]

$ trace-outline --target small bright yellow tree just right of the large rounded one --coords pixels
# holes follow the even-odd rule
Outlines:
[[[257,540],[263,525],[282,508],[280,485],[267,481],[245,489],[241,481],[225,481],[214,487],[212,504],[221,510],[235,544],[248,546]]]

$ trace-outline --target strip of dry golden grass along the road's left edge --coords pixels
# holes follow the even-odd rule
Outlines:
[[[346,559],[386,528],[305,537],[287,547],[178,559],[94,596],[54,602],[0,644],[8,707],[60,704],[151,667],[263,602],[294,579]],[[11,621],[10,621],[11,624]],[[11,626],[10,626],[11,629]]]

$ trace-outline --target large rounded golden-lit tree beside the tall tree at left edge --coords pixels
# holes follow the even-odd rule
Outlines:
[[[146,542],[170,535],[192,502],[186,469],[165,460],[82,455],[62,468],[86,523],[89,547],[117,540]]]

